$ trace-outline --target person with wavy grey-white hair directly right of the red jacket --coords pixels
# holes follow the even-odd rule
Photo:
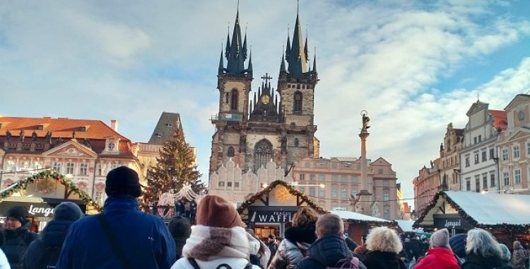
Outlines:
[[[467,232],[466,257],[462,269],[499,268],[502,265],[502,251],[490,232],[475,228]]]

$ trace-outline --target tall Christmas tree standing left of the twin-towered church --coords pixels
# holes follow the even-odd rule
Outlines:
[[[182,127],[179,124],[174,126],[172,138],[160,149],[157,164],[147,170],[147,186],[140,199],[140,207],[144,212],[151,212],[150,207],[160,195],[170,190],[177,193],[185,183],[192,185],[196,193],[204,190],[199,179],[201,174],[196,170],[194,150],[186,143]]]

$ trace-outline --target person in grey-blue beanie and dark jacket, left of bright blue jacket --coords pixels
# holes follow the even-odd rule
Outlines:
[[[66,233],[71,224],[85,214],[73,202],[61,202],[54,208],[54,218],[40,234],[40,239],[31,242],[22,263],[23,269],[47,269],[57,265]]]

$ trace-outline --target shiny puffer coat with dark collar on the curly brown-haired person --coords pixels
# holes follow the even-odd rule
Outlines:
[[[269,269],[294,268],[305,257],[307,248],[317,240],[314,227],[289,227],[285,229],[285,239],[278,246],[276,255],[272,258]],[[272,254],[271,254],[272,256]]]

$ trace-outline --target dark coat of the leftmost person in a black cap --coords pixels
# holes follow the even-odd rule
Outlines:
[[[6,254],[11,269],[22,268],[24,254],[31,242],[39,238],[38,234],[30,231],[31,222],[26,222],[16,230],[4,230],[6,242],[1,247]]]

